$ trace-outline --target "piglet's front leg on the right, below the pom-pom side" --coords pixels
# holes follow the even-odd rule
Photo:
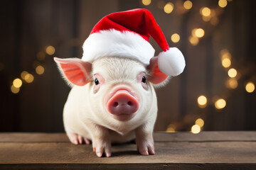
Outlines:
[[[142,155],[155,154],[153,126],[146,123],[135,130],[137,150]]]

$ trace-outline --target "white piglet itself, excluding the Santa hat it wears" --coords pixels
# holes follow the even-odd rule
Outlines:
[[[63,110],[70,142],[90,144],[91,140],[97,157],[103,153],[110,157],[111,142],[136,138],[140,154],[155,154],[152,133],[157,101],[151,83],[159,79],[151,74],[156,67],[155,57],[147,67],[122,57],[102,57],[92,64],[78,58],[54,60],[63,77],[73,77],[67,79],[68,83],[76,84]]]

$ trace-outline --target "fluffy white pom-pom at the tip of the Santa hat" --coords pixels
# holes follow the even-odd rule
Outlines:
[[[183,72],[185,59],[178,48],[171,47],[166,52],[160,52],[158,57],[158,67],[167,76],[175,77]]]

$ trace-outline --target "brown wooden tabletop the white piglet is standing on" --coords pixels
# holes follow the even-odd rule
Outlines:
[[[0,169],[256,169],[256,132],[156,132],[154,141],[155,155],[129,143],[98,158],[63,133],[0,133]]]

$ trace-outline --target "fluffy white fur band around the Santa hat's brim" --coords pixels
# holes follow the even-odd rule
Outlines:
[[[154,48],[141,35],[131,31],[100,30],[92,33],[82,45],[82,60],[93,62],[99,57],[130,57],[148,65]]]

